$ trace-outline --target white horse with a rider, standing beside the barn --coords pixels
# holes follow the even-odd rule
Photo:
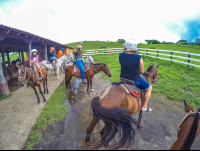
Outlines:
[[[57,75],[58,79],[59,79],[59,69],[60,69],[60,67],[62,66],[62,63],[65,60],[66,60],[66,56],[65,55],[60,57],[59,59],[56,59],[56,64],[55,64],[56,70],[54,70],[54,72],[55,72],[55,75]],[[47,69],[51,69],[51,70],[54,69],[52,63],[50,63],[47,60],[44,60],[44,61],[40,62],[40,64],[43,64]]]

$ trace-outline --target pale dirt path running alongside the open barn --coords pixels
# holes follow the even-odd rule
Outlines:
[[[60,72],[60,80],[54,73],[48,72],[49,94],[45,94],[48,100],[54,90],[64,79]],[[8,98],[0,101],[0,149],[19,150],[23,149],[32,126],[45,107],[42,96],[39,93],[41,104],[37,105],[37,97],[31,87],[21,87]],[[43,86],[42,86],[43,90]]]

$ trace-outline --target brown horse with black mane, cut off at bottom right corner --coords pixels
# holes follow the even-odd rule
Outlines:
[[[187,114],[179,126],[178,138],[170,150],[190,150],[200,133],[200,109],[193,109],[185,100],[184,104]]]

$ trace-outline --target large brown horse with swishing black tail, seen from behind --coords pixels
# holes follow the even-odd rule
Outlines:
[[[150,67],[142,75],[151,84],[158,76],[157,66],[150,64]],[[138,96],[138,95],[137,95]],[[143,97],[144,98],[144,97]],[[86,142],[90,142],[90,135],[93,132],[96,124],[102,120],[104,122],[104,128],[100,132],[101,140],[94,145],[95,149],[107,146],[114,138],[117,132],[121,132],[121,139],[119,143],[114,144],[110,148],[119,149],[130,144],[133,140],[134,130],[133,124],[137,127],[141,127],[140,121],[142,118],[142,98],[134,97],[128,94],[125,88],[121,84],[110,84],[107,88],[97,94],[91,102],[93,110],[93,120],[90,126],[87,128]],[[131,114],[139,112],[138,122],[131,117]]]

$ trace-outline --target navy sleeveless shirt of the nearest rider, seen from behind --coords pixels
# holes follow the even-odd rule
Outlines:
[[[121,64],[121,74],[120,77],[140,81],[142,77],[140,76],[140,55],[126,54],[125,52],[119,54],[119,62]]]

